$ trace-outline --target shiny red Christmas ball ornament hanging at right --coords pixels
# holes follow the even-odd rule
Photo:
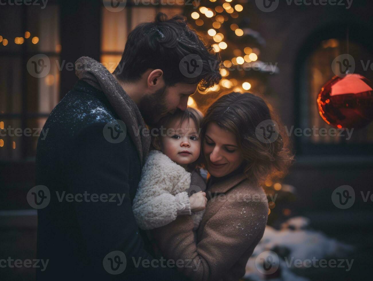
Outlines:
[[[362,128],[373,120],[372,82],[360,74],[335,76],[317,97],[324,121],[337,128]]]

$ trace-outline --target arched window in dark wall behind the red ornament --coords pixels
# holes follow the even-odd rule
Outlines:
[[[373,154],[373,122],[361,129],[340,129],[337,135],[329,134],[328,125],[320,116],[317,107],[317,96],[323,85],[335,76],[332,69],[333,60],[345,53],[349,53],[355,60],[354,73],[361,74],[373,82],[373,52],[369,45],[361,41],[347,40],[343,37],[347,29],[341,28],[336,32],[338,37],[321,34],[313,41],[308,41],[300,53],[298,69],[296,70],[297,95],[296,100],[296,126],[294,128],[309,128],[310,136],[299,134],[296,137],[296,146],[301,154]],[[350,30],[351,32],[351,30]],[[329,32],[333,34],[333,32]],[[351,37],[350,37],[351,38]],[[316,40],[316,41],[315,41]],[[349,50],[348,50],[349,49]],[[320,131],[320,129],[323,131]],[[326,134],[325,134],[326,131]]]

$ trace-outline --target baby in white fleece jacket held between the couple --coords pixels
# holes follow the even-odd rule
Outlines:
[[[197,168],[202,118],[201,112],[188,107],[162,118],[155,127],[159,132],[152,136],[154,149],[142,168],[132,205],[141,229],[162,227],[178,215],[192,215],[194,230],[198,228],[207,202],[206,184]]]

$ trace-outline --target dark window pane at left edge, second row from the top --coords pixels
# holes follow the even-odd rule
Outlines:
[[[20,113],[22,110],[21,59],[1,57],[0,114]]]

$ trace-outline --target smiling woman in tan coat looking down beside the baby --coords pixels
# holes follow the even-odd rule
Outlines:
[[[292,160],[285,135],[258,134],[273,128],[263,121],[277,125],[272,119],[263,99],[250,93],[227,94],[207,109],[201,133],[210,178],[200,227],[195,234],[191,217],[183,215],[152,232],[163,256],[192,280],[239,280],[245,274],[267,223],[261,184],[284,175]]]

